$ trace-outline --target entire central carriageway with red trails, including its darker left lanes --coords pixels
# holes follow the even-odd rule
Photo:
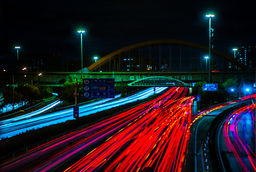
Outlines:
[[[194,97],[164,95],[1,164],[1,171],[179,171]]]

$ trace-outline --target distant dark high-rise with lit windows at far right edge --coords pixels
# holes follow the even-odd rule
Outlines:
[[[242,46],[238,48],[234,58],[241,63],[247,65],[249,68],[256,67],[256,46]],[[228,69],[230,70],[241,70],[241,68],[228,62]]]

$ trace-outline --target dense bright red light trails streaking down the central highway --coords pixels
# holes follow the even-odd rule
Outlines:
[[[137,172],[152,168],[179,171],[189,140],[194,98],[185,97],[187,91],[187,88],[171,89],[158,101],[125,112],[131,116],[137,112],[137,118],[65,172]]]

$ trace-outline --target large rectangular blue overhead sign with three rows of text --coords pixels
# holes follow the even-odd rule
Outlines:
[[[114,78],[83,79],[83,98],[114,98]]]

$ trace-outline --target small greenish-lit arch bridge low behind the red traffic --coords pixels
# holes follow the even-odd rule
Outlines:
[[[128,86],[189,86],[189,84],[170,77],[150,76],[131,82]]]

